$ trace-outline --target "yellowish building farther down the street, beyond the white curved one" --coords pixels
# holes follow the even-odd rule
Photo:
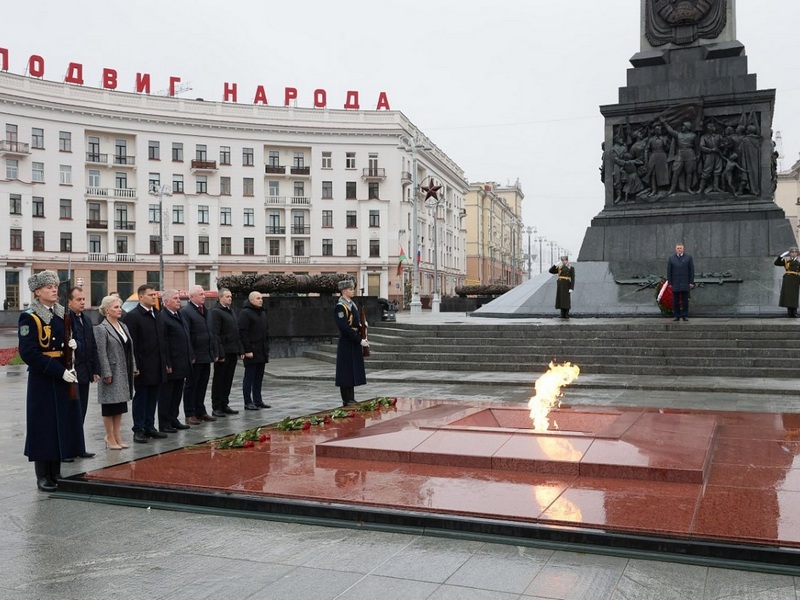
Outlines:
[[[511,186],[470,183],[466,196],[467,283],[522,283],[522,201],[519,181]]]

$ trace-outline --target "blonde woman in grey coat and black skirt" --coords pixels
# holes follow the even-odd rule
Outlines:
[[[128,402],[133,397],[133,378],[138,371],[131,334],[120,320],[122,300],[118,296],[106,296],[100,303],[100,314],[105,320],[94,328],[101,377],[97,401],[106,428],[106,448],[121,450],[128,447],[120,433],[122,415],[128,412]]]

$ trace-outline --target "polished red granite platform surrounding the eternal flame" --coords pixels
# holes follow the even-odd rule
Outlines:
[[[559,431],[533,434],[519,409],[399,399],[84,479],[800,548],[800,415],[562,407]]]

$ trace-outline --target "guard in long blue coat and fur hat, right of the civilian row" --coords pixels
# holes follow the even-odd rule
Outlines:
[[[339,302],[333,308],[333,320],[339,330],[339,340],[336,343],[336,387],[342,396],[342,404],[348,406],[356,403],[355,387],[367,383],[363,348],[369,348],[369,342],[361,339],[361,315],[353,302],[356,295],[355,283],[348,279],[340,281],[339,292]]]

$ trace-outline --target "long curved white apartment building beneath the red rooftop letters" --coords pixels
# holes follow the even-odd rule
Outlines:
[[[418,185],[443,186],[438,220],[419,205],[421,291],[434,285],[434,223],[443,293],[464,282],[464,173],[399,111],[204,102],[0,73],[0,113],[0,281],[11,308],[30,302],[37,270],[70,274],[96,306],[109,291],[157,284],[161,259],[168,288],[344,272],[364,294],[402,300],[413,211],[400,136],[425,142]],[[171,195],[153,194],[159,186]]]

